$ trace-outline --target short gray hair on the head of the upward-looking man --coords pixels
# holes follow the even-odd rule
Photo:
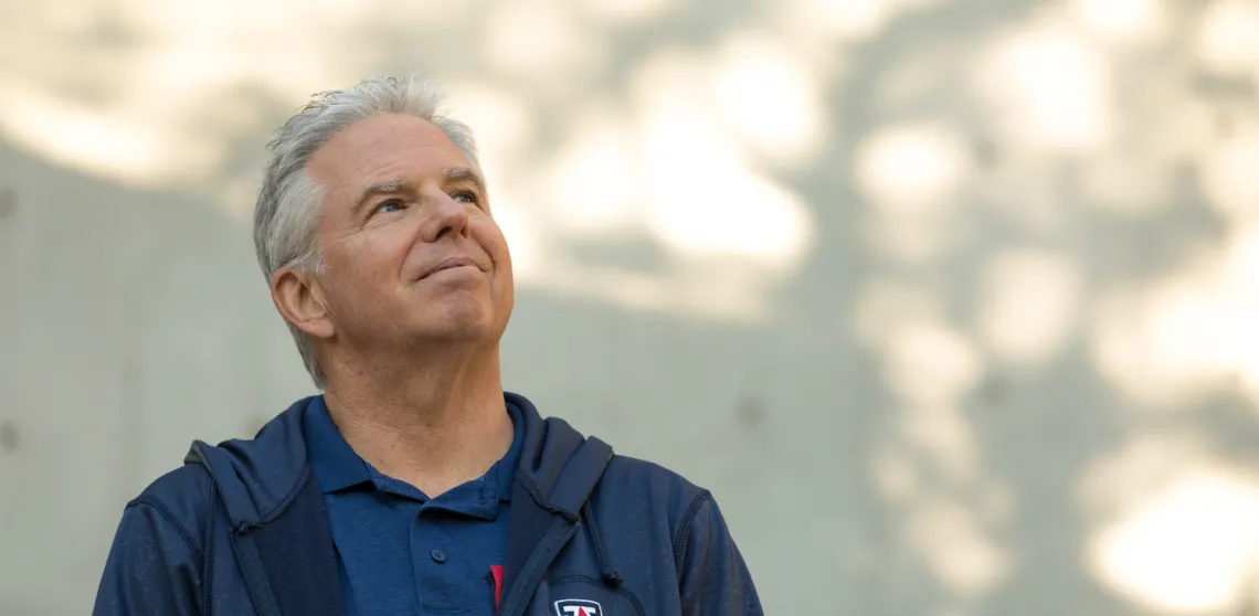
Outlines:
[[[378,77],[351,88],[316,94],[276,131],[267,144],[271,159],[263,170],[253,210],[253,243],[268,285],[283,267],[322,273],[324,258],[315,231],[324,210],[324,191],[307,173],[306,164],[324,144],[350,125],[384,113],[422,117],[441,128],[472,166],[480,166],[472,130],[446,117],[442,103],[442,94],[417,76]],[[315,356],[313,340],[293,324],[287,325],[306,372],[315,385],[324,389],[327,379]]]

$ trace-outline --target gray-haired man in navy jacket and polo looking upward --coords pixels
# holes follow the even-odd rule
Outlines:
[[[759,615],[708,491],[504,393],[514,304],[468,128],[415,78],[269,149],[258,260],[322,396],[132,500],[96,615]]]

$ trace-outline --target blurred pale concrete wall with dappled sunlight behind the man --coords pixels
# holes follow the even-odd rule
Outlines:
[[[307,94],[419,71],[509,388],[714,490],[771,613],[1236,615],[1254,0],[0,0],[0,613],[311,392],[248,233]]]

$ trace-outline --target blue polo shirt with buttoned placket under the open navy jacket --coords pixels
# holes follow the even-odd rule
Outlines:
[[[495,613],[491,566],[507,543],[511,481],[524,421],[485,475],[436,499],[375,470],[336,430],[324,397],[303,418],[315,480],[324,490],[347,616]]]

